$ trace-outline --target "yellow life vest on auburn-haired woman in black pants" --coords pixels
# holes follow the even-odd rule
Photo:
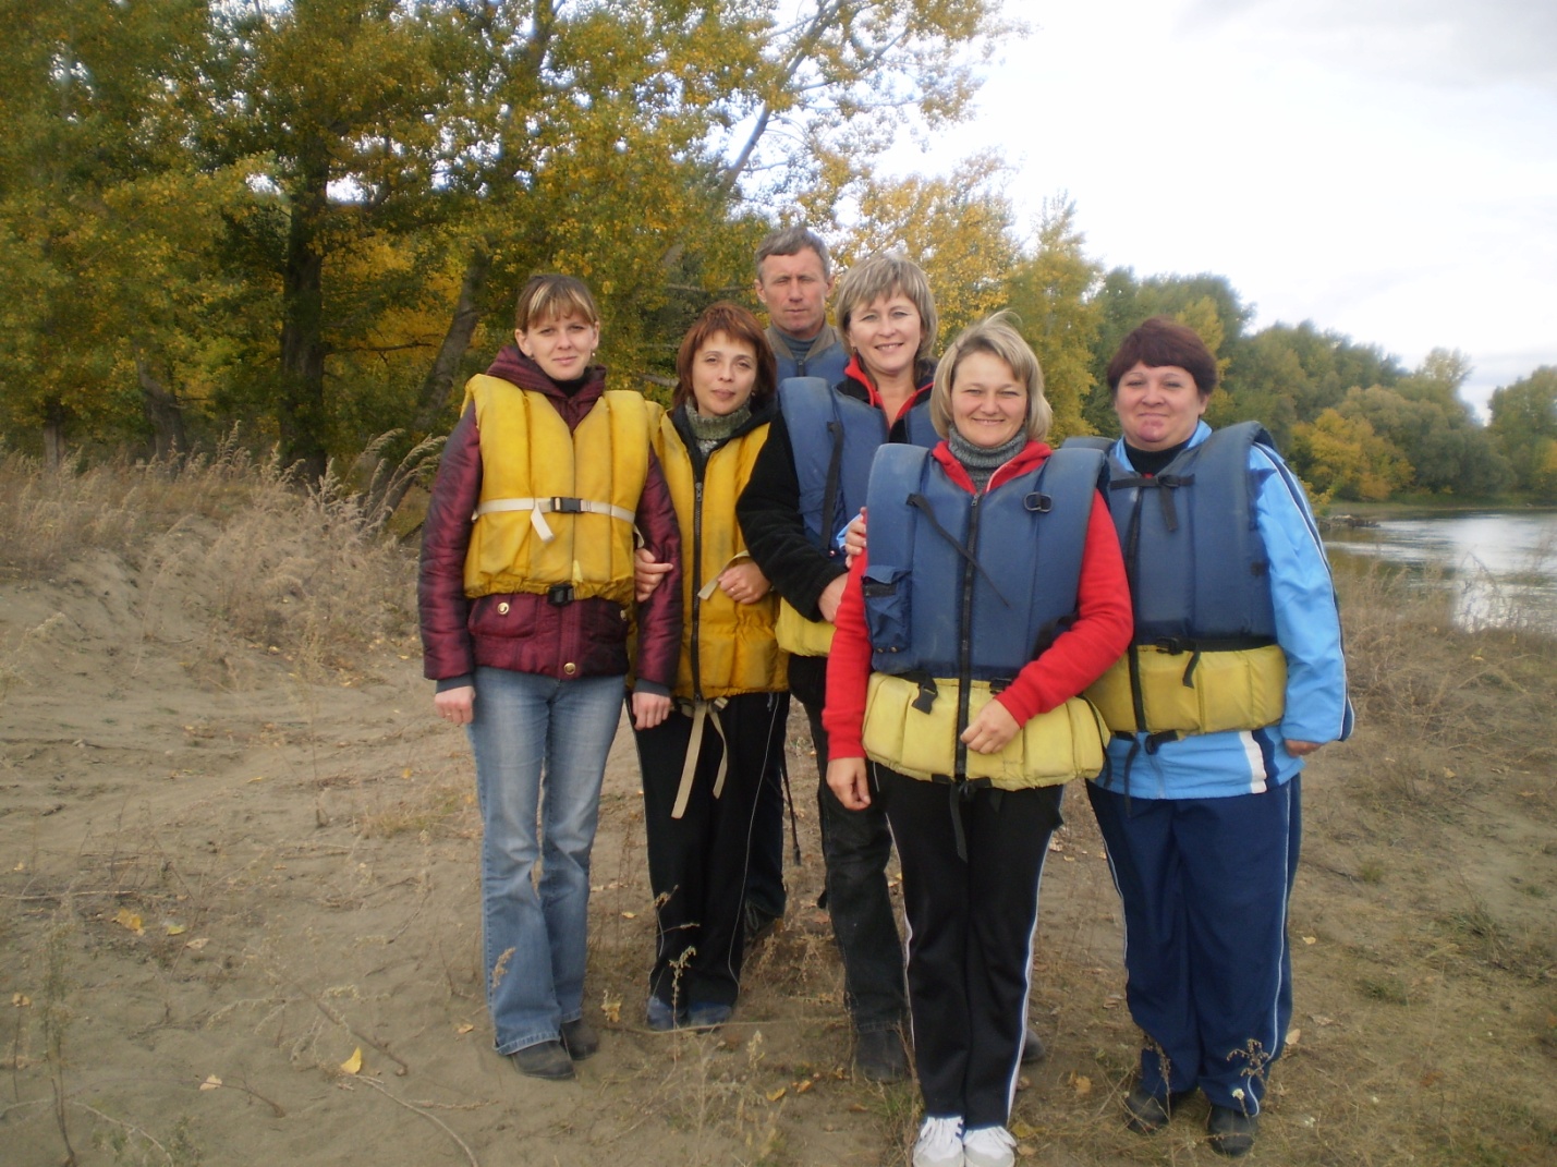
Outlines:
[[[768,427],[760,425],[713,452],[704,466],[699,516],[691,455],[673,414],[663,413],[654,430],[654,452],[665,471],[682,534],[685,619],[674,695],[684,700],[701,696],[708,701],[786,687],[785,653],[774,639],[777,594],[769,592],[754,605],[740,605],[718,584],[726,567],[750,558],[741,527],[735,522],[735,500],[750,480],[752,466],[766,442]]]

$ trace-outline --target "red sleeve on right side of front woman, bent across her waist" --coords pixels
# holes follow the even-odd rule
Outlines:
[[[1076,623],[995,700],[1018,725],[1057,709],[1102,676],[1130,643],[1135,615],[1119,536],[1102,495],[1093,495],[1076,586]]]

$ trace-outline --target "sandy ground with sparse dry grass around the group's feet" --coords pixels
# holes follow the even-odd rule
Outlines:
[[[26,763],[16,798],[40,807],[0,813],[0,968],[33,997],[12,1002],[0,1033],[14,1095],[0,1125],[42,1148],[22,1162],[58,1162],[67,1145],[81,1162],[193,1162],[201,1147],[230,1150],[232,1130],[302,1162],[327,1155],[333,1130],[395,1122],[399,1161],[461,1161],[445,1134],[459,1131],[489,1164],[536,1147],[547,1150],[526,1161],[908,1162],[916,1088],[847,1070],[841,971],[811,907],[821,865],[803,737],[791,771],[808,862],[789,871],[789,922],[754,955],[736,1021],[718,1036],[645,1031],[641,801],[631,781],[607,792],[587,1000],[609,1049],[582,1075],[587,1105],[531,1114],[512,1098],[542,1095],[520,1095],[472,1052],[487,1041],[480,820],[464,742],[422,717],[405,548],[366,534],[367,505],[336,486],[302,491],[238,453],[54,478],[8,457],[0,489],[12,500],[0,514],[11,583],[37,592],[58,576],[59,603],[79,605],[72,578],[120,566],[135,597],[132,647],[92,667],[171,656],[190,667],[159,676],[269,703],[248,720],[221,706],[207,720],[179,714],[176,740],[143,731],[139,759],[128,746],[78,749],[78,731],[61,731],[14,763],[17,776]],[[1305,777],[1292,915],[1302,1038],[1272,1075],[1250,1162],[1557,1162],[1557,651],[1534,619],[1457,629],[1453,595],[1384,569],[1348,572],[1341,587],[1359,729]],[[75,608],[50,611],[0,643],[0,686],[42,684],[72,654],[106,651],[106,639],[90,648]],[[374,689],[332,706],[343,686]],[[179,756],[163,760],[170,746]],[[87,749],[112,765],[78,760]],[[223,751],[238,759],[227,781],[195,785]],[[34,793],[70,767],[76,801]],[[92,777],[111,770],[118,785]],[[1051,1056],[1017,1095],[1020,1162],[1204,1167],[1218,1161],[1204,1105],[1155,1139],[1119,1122],[1140,1035],[1121,999],[1118,905],[1079,795],[1045,874],[1032,1019]],[[106,823],[79,838],[48,834],[93,799]],[[145,935],[120,910],[143,918]],[[192,947],[192,936],[210,943]],[[106,1017],[123,1027],[92,1028]],[[160,1074],[143,1050],[154,1042],[198,1074],[137,1092],[115,1063]],[[353,1047],[375,1067],[371,1091],[353,1092],[338,1069]],[[220,1092],[199,1092],[206,1074],[226,1080]],[[318,1147],[286,1144],[310,1114]]]

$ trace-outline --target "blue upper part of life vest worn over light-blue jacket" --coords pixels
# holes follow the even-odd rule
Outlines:
[[[1157,475],[1109,460],[1109,509],[1135,605],[1135,643],[1205,651],[1275,643],[1269,558],[1260,539],[1249,449],[1275,447],[1258,422],[1216,430]],[[1071,438],[1065,449],[1112,449]],[[875,550],[875,533],[870,538]],[[1141,587],[1146,564],[1149,587]]]

